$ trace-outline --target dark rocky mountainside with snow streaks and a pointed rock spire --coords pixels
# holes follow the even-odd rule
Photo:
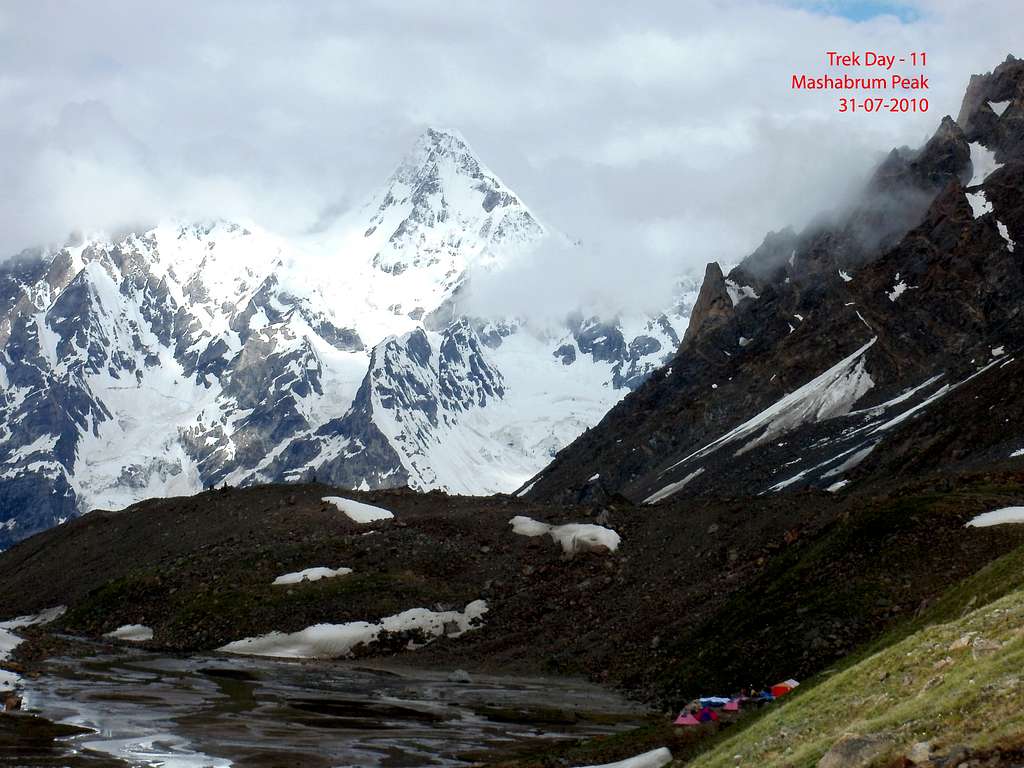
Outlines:
[[[1024,61],[895,150],[849,210],[708,267],[657,371],[520,494],[653,504],[1024,455]]]

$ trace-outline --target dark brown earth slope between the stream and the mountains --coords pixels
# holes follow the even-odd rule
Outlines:
[[[357,526],[321,501],[330,492],[223,489],[91,513],[0,554],[0,615],[67,604],[55,629],[146,624],[155,646],[187,651],[483,597],[481,629],[416,651],[417,663],[584,674],[675,706],[817,672],[1024,542],[963,527],[1021,502],[1019,464],[846,498],[611,504],[600,515],[620,551],[571,560],[508,521],[586,521],[593,510],[376,493],[357,496],[395,520]],[[314,565],[354,573],[270,585]]]

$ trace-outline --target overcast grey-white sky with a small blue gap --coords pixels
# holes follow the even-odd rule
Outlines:
[[[5,0],[0,253],[170,215],[306,230],[439,125],[639,291],[827,208],[1022,33],[1020,0]],[[792,91],[828,49],[927,51],[930,112]]]

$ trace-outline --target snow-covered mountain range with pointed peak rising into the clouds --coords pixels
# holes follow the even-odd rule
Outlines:
[[[3,262],[0,549],[224,482],[515,488],[675,352],[692,301],[544,328],[460,311],[473,269],[551,237],[430,129],[315,237],[177,222]]]

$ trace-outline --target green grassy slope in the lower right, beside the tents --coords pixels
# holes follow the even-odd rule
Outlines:
[[[1019,741],[1024,548],[965,580],[838,672],[809,683],[689,765],[814,766],[846,734],[877,736],[878,765],[923,741],[940,755],[954,746],[988,750]]]

